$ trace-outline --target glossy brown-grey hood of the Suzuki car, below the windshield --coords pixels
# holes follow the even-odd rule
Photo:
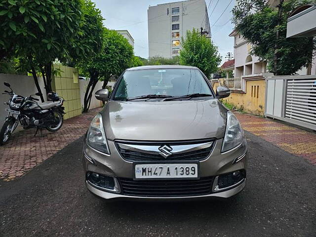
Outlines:
[[[110,140],[220,139],[225,134],[227,109],[217,99],[109,101],[101,115]]]

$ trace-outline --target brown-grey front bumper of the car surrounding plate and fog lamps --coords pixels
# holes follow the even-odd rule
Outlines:
[[[238,183],[227,188],[218,188],[217,180],[220,175],[232,173],[237,170],[246,170],[247,144],[243,141],[237,148],[221,153],[222,139],[216,141],[214,148],[208,158],[197,161],[200,167],[200,178],[212,177],[210,193],[207,195],[177,196],[177,197],[146,197],[131,196],[124,194],[120,184],[121,178],[133,179],[133,162],[124,160],[113,141],[108,141],[111,155],[101,154],[89,147],[85,142],[83,144],[83,168],[85,171],[85,185],[87,189],[96,196],[105,199],[130,199],[130,200],[191,200],[200,198],[232,197],[239,193],[246,183],[246,177]],[[237,162],[236,162],[237,161]],[[158,161],[161,162],[161,161]],[[176,163],[176,161],[175,161]],[[87,180],[87,173],[94,172],[104,176],[113,177],[116,183],[115,190],[106,190],[93,185]]]

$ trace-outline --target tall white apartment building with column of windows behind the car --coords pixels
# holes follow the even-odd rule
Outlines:
[[[148,8],[149,57],[179,55],[187,30],[211,29],[205,0],[169,2]]]

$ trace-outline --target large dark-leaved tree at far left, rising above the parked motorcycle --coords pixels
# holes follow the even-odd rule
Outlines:
[[[0,59],[21,57],[39,92],[39,73],[46,92],[51,91],[52,62],[63,60],[74,46],[82,4],[82,0],[0,0]]]

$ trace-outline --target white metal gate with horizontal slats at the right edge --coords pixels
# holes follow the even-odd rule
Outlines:
[[[265,116],[316,130],[316,76],[267,78]]]

